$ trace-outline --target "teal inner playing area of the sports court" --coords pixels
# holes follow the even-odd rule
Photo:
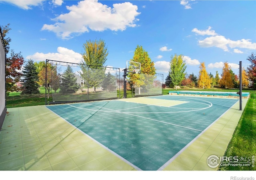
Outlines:
[[[154,99],[157,105],[152,105]],[[164,106],[160,100],[165,100]],[[170,102],[169,107],[168,100],[179,103]],[[157,96],[143,98],[142,103],[120,100],[47,107],[135,169],[162,170],[236,102],[237,99]],[[214,133],[217,132],[219,129]],[[214,141],[211,135],[200,140],[206,142],[206,147]],[[196,165],[193,161],[191,158],[190,167]]]

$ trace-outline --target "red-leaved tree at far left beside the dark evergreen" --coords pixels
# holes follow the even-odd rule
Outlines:
[[[6,58],[6,90],[17,91],[20,90],[15,84],[20,81],[22,77],[21,68],[24,63],[24,58],[21,52],[14,53],[11,50],[11,56]]]

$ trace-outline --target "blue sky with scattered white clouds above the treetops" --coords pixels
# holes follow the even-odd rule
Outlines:
[[[125,68],[137,45],[146,50],[156,72],[170,69],[170,56],[183,54],[188,74],[221,74],[228,62],[256,52],[256,1],[215,0],[0,0],[0,25],[10,23],[10,49],[25,60],[80,63],[86,40],[105,41],[107,66]]]

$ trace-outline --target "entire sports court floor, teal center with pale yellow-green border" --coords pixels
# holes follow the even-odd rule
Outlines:
[[[8,109],[0,170],[216,170],[242,114],[237,99],[133,99]]]

